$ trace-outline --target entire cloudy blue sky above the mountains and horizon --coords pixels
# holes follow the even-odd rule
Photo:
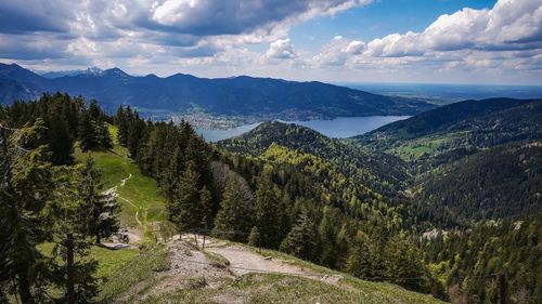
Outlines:
[[[542,0],[2,0],[0,62],[40,71],[542,83]]]

